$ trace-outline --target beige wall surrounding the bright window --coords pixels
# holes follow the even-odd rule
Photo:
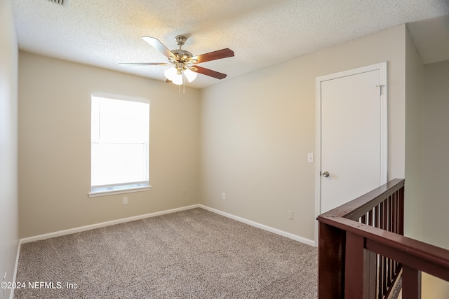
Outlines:
[[[92,92],[150,100],[152,190],[88,197]],[[198,203],[198,90],[20,52],[18,97],[20,237]]]

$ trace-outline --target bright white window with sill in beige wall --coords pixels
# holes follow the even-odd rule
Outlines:
[[[140,191],[149,186],[149,101],[92,95],[91,193]]]

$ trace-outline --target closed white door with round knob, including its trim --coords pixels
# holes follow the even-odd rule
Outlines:
[[[387,64],[316,78],[322,214],[387,183]]]

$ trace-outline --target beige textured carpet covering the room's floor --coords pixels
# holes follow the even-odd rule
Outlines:
[[[14,298],[307,298],[317,250],[204,209],[22,244]]]

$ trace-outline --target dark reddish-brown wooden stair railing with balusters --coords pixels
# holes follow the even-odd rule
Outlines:
[[[318,216],[319,299],[421,298],[421,272],[449,281],[449,251],[403,236],[404,180]]]

